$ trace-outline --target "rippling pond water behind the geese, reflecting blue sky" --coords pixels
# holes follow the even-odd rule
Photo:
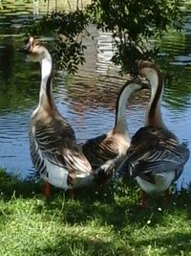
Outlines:
[[[14,1],[14,3],[16,2]],[[28,16],[32,16],[32,13],[36,14],[38,12],[36,2],[34,4],[35,6],[31,5],[29,15],[28,9],[24,10],[24,5],[19,7],[22,14],[20,11],[15,11],[14,14],[11,14],[11,9],[9,9],[0,15],[1,38],[4,36],[5,38],[3,39],[6,40],[6,37],[9,37],[7,40],[10,43],[10,37],[23,36],[17,34],[17,29]],[[36,8],[35,11],[34,8]],[[8,12],[10,12],[9,15],[7,15]],[[187,24],[187,33],[189,33],[189,27],[190,24]],[[83,67],[79,67],[79,72],[75,76],[69,77],[65,72],[60,71],[56,73],[53,81],[53,95],[56,105],[61,114],[73,126],[79,142],[93,138],[103,132],[108,132],[114,127],[117,93],[122,84],[127,80],[127,78],[121,79],[117,76],[118,68],[111,62],[114,54],[112,35],[98,33],[91,26],[89,29],[94,32],[95,40],[88,38],[84,42],[88,46],[85,51],[87,62]],[[183,86],[179,86],[177,81],[172,80],[170,86],[165,88],[162,113],[166,125],[178,135],[180,140],[188,141],[190,147],[191,78],[188,75],[190,74],[190,70],[187,65],[191,62],[191,53],[186,52],[190,49],[188,47],[189,40],[184,40],[184,36],[180,36],[178,40],[175,38],[177,37],[174,35],[171,36],[171,33],[166,36],[160,55],[166,55],[167,57],[171,56],[171,54],[175,55],[175,61],[171,62],[173,75],[179,66],[180,74],[184,71],[184,74],[187,75],[180,75],[179,79],[183,82]],[[12,44],[16,43],[16,39],[14,38]],[[53,41],[53,37],[41,37],[40,39],[42,41]],[[0,49],[4,51],[5,47],[2,45]],[[185,50],[185,48],[188,50]],[[12,83],[15,82],[15,76],[19,74],[19,80],[26,84],[19,91],[19,95],[23,97],[18,98],[19,100],[16,103],[13,100],[10,103],[11,107],[12,105],[16,105],[14,108],[12,107],[13,110],[11,110],[11,107],[9,109],[1,109],[0,163],[9,170],[19,170],[19,172],[24,172],[27,175],[32,170],[29,152],[28,123],[32,109],[37,105],[37,90],[39,88],[36,85],[32,86],[32,89],[29,90],[29,86],[31,85],[28,85],[28,80],[32,80],[35,84],[40,83],[39,76],[36,76],[39,72],[36,72],[35,75],[28,74],[28,68],[31,66],[29,65],[27,68],[23,68],[21,58],[16,58],[16,54],[13,54],[13,65],[15,64],[13,67],[18,69],[15,72],[14,68],[12,68],[9,74],[9,81],[11,80]],[[0,59],[0,65],[2,63],[4,62]],[[14,75],[14,72],[16,75]],[[1,70],[0,86],[3,84],[1,82],[4,79],[2,77],[3,75]],[[14,88],[15,92],[19,90],[14,86],[12,88]],[[25,93],[22,95],[23,92]],[[13,93],[14,91],[10,92],[10,94]],[[138,95],[130,101],[127,107],[127,121],[132,135],[143,125],[145,107],[149,99],[147,96],[142,98]],[[20,99],[22,102],[19,102]],[[189,160],[181,176],[181,180],[183,178],[191,180],[188,168],[190,164],[191,162]]]

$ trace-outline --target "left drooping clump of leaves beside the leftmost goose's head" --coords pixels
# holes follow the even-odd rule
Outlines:
[[[33,21],[31,20],[33,23]],[[85,61],[82,38],[86,33],[89,19],[87,15],[75,12],[52,12],[51,15],[36,19],[31,28],[32,35],[56,33],[54,57],[58,67],[67,69],[70,73],[77,71],[79,63]]]

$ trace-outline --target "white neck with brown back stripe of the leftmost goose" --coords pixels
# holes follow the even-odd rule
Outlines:
[[[53,101],[53,63],[49,52],[47,51],[45,58],[40,62],[41,64],[41,84],[39,95],[39,106],[49,109],[54,108]]]

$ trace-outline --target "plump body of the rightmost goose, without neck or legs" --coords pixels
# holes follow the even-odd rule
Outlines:
[[[189,151],[166,128],[145,127],[132,137],[130,173],[147,194],[166,191],[178,179]]]

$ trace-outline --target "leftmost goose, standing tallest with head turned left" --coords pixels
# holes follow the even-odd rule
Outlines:
[[[50,184],[69,190],[74,198],[74,188],[91,184],[95,172],[76,145],[74,129],[53,101],[53,61],[49,51],[33,36],[20,51],[27,55],[28,61],[41,65],[39,103],[29,125],[32,164],[46,182],[46,198],[50,196]]]

